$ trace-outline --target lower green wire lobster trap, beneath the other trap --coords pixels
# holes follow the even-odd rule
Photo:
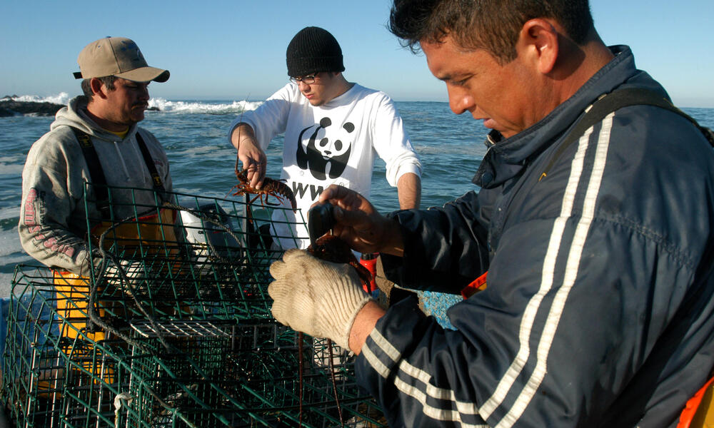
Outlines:
[[[135,322],[131,342],[94,341],[61,333],[76,327],[48,269],[13,282],[0,395],[18,427],[337,427],[340,413],[346,427],[386,426],[344,353],[338,404],[323,341],[305,337],[300,382],[298,335],[274,321]]]

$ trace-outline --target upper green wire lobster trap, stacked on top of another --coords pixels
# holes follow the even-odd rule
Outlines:
[[[295,235],[298,225],[304,230],[299,210],[249,203],[252,195],[230,200],[109,187],[106,221],[94,216],[90,190],[87,231],[102,263],[76,291],[111,317],[270,317],[269,267],[283,253],[278,243],[304,238]]]

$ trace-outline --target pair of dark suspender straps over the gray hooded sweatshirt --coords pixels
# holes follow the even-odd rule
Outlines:
[[[74,136],[76,136],[77,141],[79,141],[79,146],[82,149],[84,160],[89,167],[89,178],[91,178],[94,193],[96,194],[97,199],[96,206],[99,209],[102,218],[109,219],[111,218],[111,213],[109,211],[109,189],[107,188],[106,176],[104,175],[104,170],[101,169],[101,163],[99,163],[99,156],[96,154],[94,144],[91,142],[89,134],[81,129],[75,128],[74,126],[70,126],[70,128],[74,131]],[[149,148],[146,147],[144,138],[141,137],[141,133],[139,133],[139,131],[136,131],[136,143],[139,144],[139,150],[141,151],[141,156],[144,158],[144,163],[146,163],[146,168],[149,168],[151,181],[154,183],[154,190],[156,190],[156,192],[163,198],[164,193],[166,192],[164,182],[161,181],[161,175],[159,175],[159,170],[156,169],[154,158],[151,158]]]

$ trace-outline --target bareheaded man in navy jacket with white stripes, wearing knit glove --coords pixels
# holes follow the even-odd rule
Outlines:
[[[271,267],[273,315],[349,345],[391,427],[675,427],[714,367],[714,151],[643,104],[570,138],[603,96],[668,100],[587,0],[464,3],[396,0],[391,31],[492,128],[480,192],[386,217],[346,189],[320,199],[402,286],[488,272],[449,310],[458,330],[413,301],[381,310],[348,267],[296,250]]]

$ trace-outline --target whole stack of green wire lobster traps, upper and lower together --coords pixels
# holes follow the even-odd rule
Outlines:
[[[286,208],[153,197],[111,221],[87,204],[88,277],[16,270],[0,397],[18,427],[386,426],[346,353],[271,317]]]

